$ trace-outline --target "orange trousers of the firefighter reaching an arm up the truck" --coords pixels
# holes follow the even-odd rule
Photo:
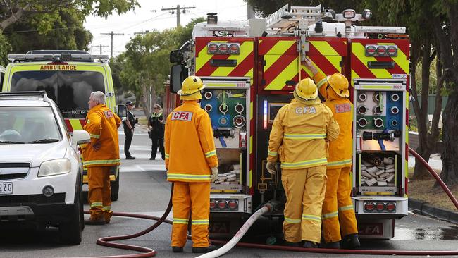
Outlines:
[[[326,171],[328,183],[323,202],[323,237],[326,242],[338,242],[342,236],[358,233],[350,197],[350,168],[346,166]]]

